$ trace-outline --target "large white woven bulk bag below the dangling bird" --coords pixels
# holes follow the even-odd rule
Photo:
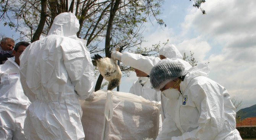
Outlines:
[[[159,104],[141,96],[99,90],[81,106],[84,140],[143,140],[158,135]]]

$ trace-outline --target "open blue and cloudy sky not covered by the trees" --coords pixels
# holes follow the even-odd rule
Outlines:
[[[166,27],[146,23],[142,46],[160,42],[174,44],[183,54],[194,53],[198,63],[209,62],[209,78],[224,86],[231,97],[242,100],[241,108],[256,104],[256,1],[206,0],[202,12],[189,0],[165,0],[162,14]],[[153,18],[151,18],[153,19]],[[7,37],[17,35],[0,25]],[[129,92],[135,72],[123,77],[121,92]],[[96,79],[97,80],[97,79]],[[96,83],[95,80],[95,83]],[[116,89],[114,89],[116,90]]]

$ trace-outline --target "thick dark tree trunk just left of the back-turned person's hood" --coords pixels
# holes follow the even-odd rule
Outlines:
[[[31,43],[35,42],[36,40],[39,40],[41,32],[44,29],[44,24],[46,21],[46,9],[47,9],[47,0],[41,0],[41,15],[40,15],[40,22],[36,29],[35,34],[32,37]]]

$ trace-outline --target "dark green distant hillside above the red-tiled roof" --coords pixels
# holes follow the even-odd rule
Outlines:
[[[240,109],[239,111],[237,111],[237,117],[238,116],[241,117],[241,120],[247,117],[256,117],[256,105]]]

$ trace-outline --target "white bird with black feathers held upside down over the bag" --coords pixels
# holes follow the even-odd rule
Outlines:
[[[95,54],[92,59],[96,61],[100,74],[109,82],[107,90],[113,90],[120,85],[122,72],[116,60],[102,58],[99,54]]]

